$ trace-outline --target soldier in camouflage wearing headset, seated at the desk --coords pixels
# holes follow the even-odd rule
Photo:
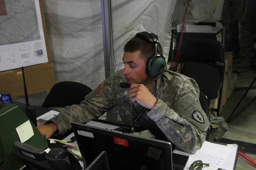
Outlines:
[[[150,56],[158,52],[162,54],[156,39],[158,37],[150,32],[138,33],[131,38],[124,46],[124,69],[99,84],[80,105],[65,107],[58,116],[37,127],[41,134],[49,138],[54,133],[63,133],[71,128],[71,122],[97,119],[114,107],[124,124],[133,125],[137,112],[145,107],[145,114],[135,126],[160,129],[159,132],[171,143],[186,152],[194,153],[200,149],[210,122],[198,100],[198,85],[191,78],[164,69],[160,69],[158,77],[161,77],[152,81],[154,78],[146,64],[151,61]],[[153,57],[150,68],[157,59]],[[120,87],[119,84],[125,81],[130,88]]]

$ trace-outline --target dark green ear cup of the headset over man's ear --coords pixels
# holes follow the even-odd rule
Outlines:
[[[164,67],[162,67],[164,65]],[[162,67],[162,71],[161,71]],[[166,67],[166,62],[165,59],[162,57],[156,57],[153,58],[150,64],[150,71],[149,71],[149,76],[151,78],[157,78],[160,74],[162,74],[165,70]]]

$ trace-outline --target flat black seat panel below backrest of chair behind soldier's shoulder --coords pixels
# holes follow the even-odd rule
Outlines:
[[[219,95],[224,75],[223,65],[184,62],[181,74],[193,78],[200,91],[209,99],[216,99]]]

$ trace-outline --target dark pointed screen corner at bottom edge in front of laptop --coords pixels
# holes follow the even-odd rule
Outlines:
[[[85,170],[110,170],[106,152],[102,151]]]

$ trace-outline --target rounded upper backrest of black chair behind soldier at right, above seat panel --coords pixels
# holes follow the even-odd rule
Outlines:
[[[209,38],[191,39],[182,54],[182,61],[206,64],[215,64],[216,61],[224,63],[224,49],[217,40]]]

